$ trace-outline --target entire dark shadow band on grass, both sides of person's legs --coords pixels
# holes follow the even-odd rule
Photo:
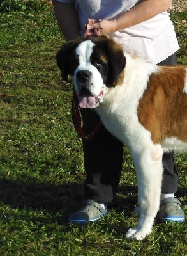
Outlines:
[[[83,184],[38,184],[20,180],[0,179],[0,201],[13,209],[33,209],[45,211],[54,217],[57,223],[65,224],[69,214],[76,211],[82,203]],[[124,216],[131,216],[137,205],[137,186],[119,186],[117,198],[109,204]],[[177,197],[187,194],[186,188],[179,188]],[[187,200],[184,202],[187,204]]]

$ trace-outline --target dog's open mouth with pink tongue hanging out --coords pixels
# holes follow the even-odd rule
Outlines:
[[[80,108],[95,108],[98,104],[103,102],[103,92],[100,92],[98,96],[93,96],[89,91],[84,90],[84,93],[79,95],[79,107]]]

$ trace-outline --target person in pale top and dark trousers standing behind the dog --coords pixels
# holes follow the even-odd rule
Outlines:
[[[53,0],[57,23],[64,38],[108,36],[125,52],[158,65],[175,65],[179,45],[167,13],[172,0]],[[83,129],[91,133],[99,118],[93,109],[80,109]],[[123,163],[123,143],[101,126],[92,140],[82,140],[86,170],[84,201],[71,214],[71,223],[88,223],[108,214],[114,200]],[[172,152],[163,154],[163,184],[158,216],[184,221],[177,191],[177,171]],[[151,172],[151,170],[150,170]]]

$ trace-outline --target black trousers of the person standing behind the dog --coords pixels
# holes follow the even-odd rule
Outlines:
[[[175,65],[173,54],[158,65]],[[99,122],[93,109],[80,109],[83,129],[93,131]],[[93,140],[82,140],[84,150],[84,167],[86,171],[84,198],[101,203],[111,202],[116,196],[123,163],[123,143],[117,140],[102,125]],[[125,157],[125,156],[124,156]],[[163,154],[162,193],[176,193],[177,170],[173,152]]]

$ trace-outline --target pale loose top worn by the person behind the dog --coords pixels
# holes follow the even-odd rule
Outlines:
[[[114,19],[140,2],[140,0],[57,1],[76,3],[82,31],[88,18]],[[108,37],[121,43],[125,52],[154,64],[160,63],[179,49],[174,26],[167,12],[160,13],[152,19],[130,28],[111,33]]]

